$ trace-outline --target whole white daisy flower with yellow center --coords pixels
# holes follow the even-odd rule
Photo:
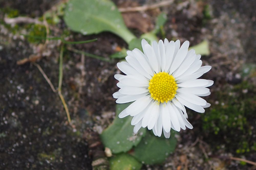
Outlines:
[[[201,96],[210,95],[212,80],[198,79],[211,69],[202,66],[201,55],[188,51],[189,42],[180,47],[180,41],[167,39],[149,45],[142,40],[143,52],[135,48],[127,51],[126,61],[117,67],[126,75],[115,74],[119,91],[113,94],[116,103],[132,102],[119,117],[133,116],[134,133],[143,127],[153,130],[156,136],[162,132],[170,137],[170,129],[192,129],[187,121],[186,108],[204,113],[210,106]]]

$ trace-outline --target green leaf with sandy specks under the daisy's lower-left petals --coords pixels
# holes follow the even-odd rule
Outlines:
[[[141,128],[136,135],[133,133],[131,116],[121,119],[118,117],[119,113],[130,104],[116,104],[115,120],[100,136],[104,146],[110,148],[112,153],[129,151],[133,146],[137,146],[142,137],[145,136],[145,128]]]

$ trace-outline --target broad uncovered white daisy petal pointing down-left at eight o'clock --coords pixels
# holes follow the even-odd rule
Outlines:
[[[151,101],[152,99],[149,96],[144,96],[130,104],[126,108],[126,112],[129,113],[131,116],[135,116],[136,114],[143,111]]]

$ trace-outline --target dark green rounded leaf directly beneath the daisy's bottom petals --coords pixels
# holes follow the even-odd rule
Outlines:
[[[171,131],[172,132],[172,131]],[[163,134],[162,134],[163,135]],[[165,161],[167,156],[175,150],[177,140],[172,133],[169,139],[157,137],[147,131],[146,136],[131,153],[137,160],[145,164],[157,164]]]

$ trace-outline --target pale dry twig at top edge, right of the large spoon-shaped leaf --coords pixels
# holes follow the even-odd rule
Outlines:
[[[127,7],[127,8],[119,8],[120,12],[134,12],[134,11],[146,11],[150,9],[159,8],[162,6],[170,5],[174,2],[174,0],[161,1],[152,5],[144,5],[137,7]]]

